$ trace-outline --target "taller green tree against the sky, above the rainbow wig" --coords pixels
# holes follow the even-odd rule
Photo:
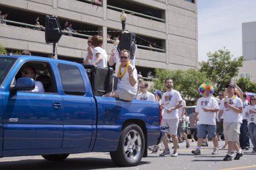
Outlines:
[[[230,79],[238,75],[239,67],[243,66],[243,56],[232,60],[230,51],[226,50],[226,48],[220,49],[213,54],[208,52],[207,56],[207,62],[199,63],[201,66],[200,71],[204,72],[214,83],[216,92],[223,90],[226,84],[230,82]]]

